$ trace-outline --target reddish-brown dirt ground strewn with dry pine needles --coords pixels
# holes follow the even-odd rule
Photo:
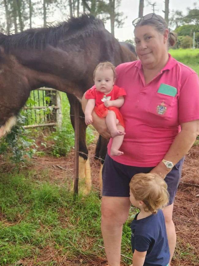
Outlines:
[[[100,191],[99,171],[100,163],[94,160],[95,144],[89,146],[89,160],[92,171],[92,186]],[[71,179],[74,169],[74,150],[67,157],[34,157],[31,169],[45,171],[50,169],[49,180],[52,183],[62,184],[66,179]],[[37,175],[36,177],[40,177]],[[43,178],[43,177],[41,177]],[[187,154],[182,179],[175,198],[173,219],[177,232],[177,247],[172,266],[196,266],[199,265],[199,146],[192,147]],[[59,266],[98,265],[106,264],[105,258],[89,257],[77,258],[76,261],[67,261],[58,254],[44,251],[53,256],[53,260]],[[41,258],[40,258],[41,259]],[[40,260],[42,261],[42,260]],[[51,261],[49,258],[48,261]],[[82,264],[86,261],[86,264]],[[23,261],[23,265],[34,265],[30,261]],[[46,264],[48,265],[48,264]],[[126,266],[126,264],[123,264]]]

